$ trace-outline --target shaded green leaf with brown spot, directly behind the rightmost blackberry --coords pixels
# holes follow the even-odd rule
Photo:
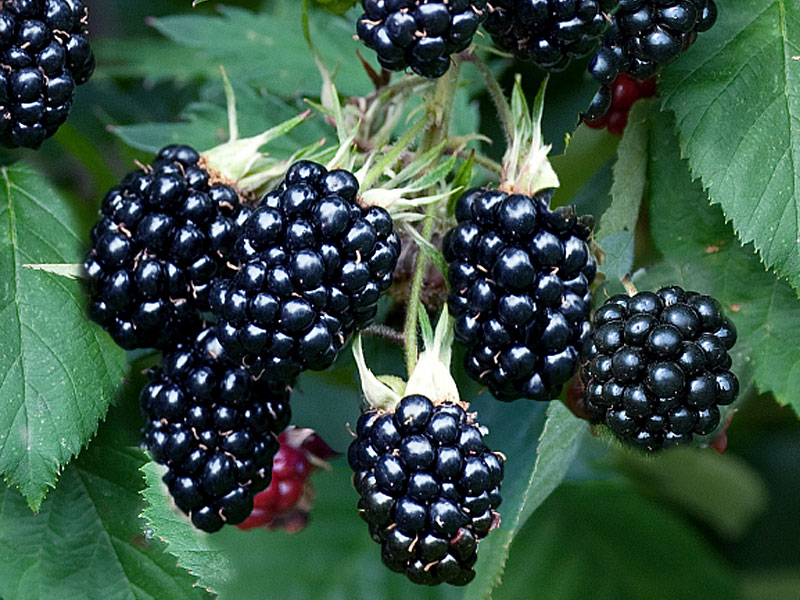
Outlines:
[[[658,143],[650,155],[650,219],[666,260],[641,282],[678,284],[719,299],[739,331],[732,356],[742,383],[752,375],[759,391],[800,412],[800,301],[764,270],[752,245],[740,245],[719,207],[692,182],[669,119],[654,113],[651,122]]]

